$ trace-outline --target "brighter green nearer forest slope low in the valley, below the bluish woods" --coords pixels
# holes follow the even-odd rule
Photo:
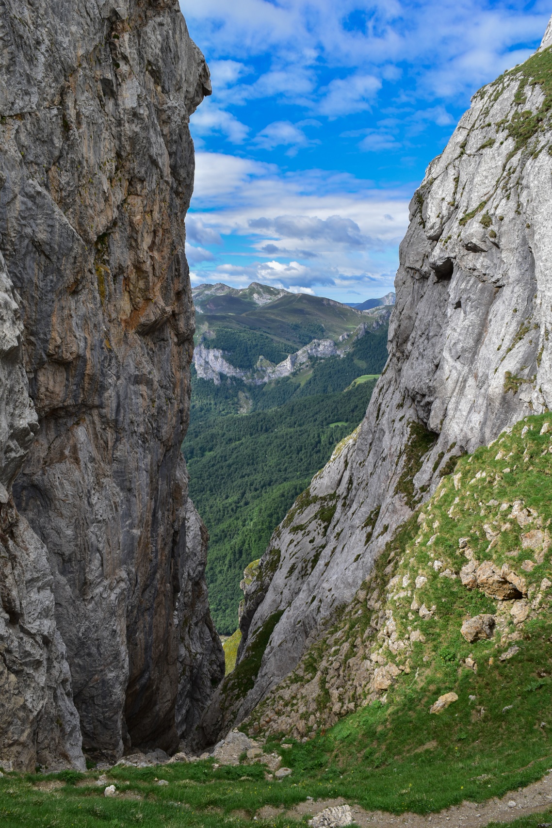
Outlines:
[[[375,382],[246,416],[215,416],[207,427],[191,424],[184,446],[190,496],[209,529],[209,604],[219,633],[238,625],[244,568],[262,556],[297,495],[358,426]],[[194,379],[196,388],[203,384],[214,388]]]

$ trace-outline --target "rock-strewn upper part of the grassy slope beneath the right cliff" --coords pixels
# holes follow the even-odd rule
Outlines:
[[[257,707],[252,730],[301,739],[352,710],[388,702],[391,739],[372,734],[368,721],[362,734],[365,744],[376,738],[377,761],[382,749],[395,753],[401,743],[415,748],[439,733],[440,742],[444,723],[430,718],[439,705],[430,708],[447,693],[459,700],[446,698],[440,708],[454,704],[449,740],[498,747],[507,712],[506,740],[515,753],[512,732],[523,729],[521,720],[547,726],[551,440],[550,415],[525,417],[459,460],[386,545],[334,628]],[[257,588],[254,580],[247,586]],[[364,716],[370,718],[381,716]],[[483,729],[493,733],[483,736]],[[535,734],[534,749],[545,742]]]

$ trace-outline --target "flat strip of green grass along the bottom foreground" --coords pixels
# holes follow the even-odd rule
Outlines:
[[[372,717],[377,711],[372,711]],[[380,720],[381,722],[381,720]],[[351,726],[366,727],[367,722],[351,721]],[[113,768],[106,775],[119,797],[103,797],[103,786],[94,784],[99,772],[74,774],[79,787],[65,782],[54,792],[36,789],[44,777],[8,774],[0,780],[0,821],[6,828],[28,826],[202,826],[214,828],[225,823],[246,824],[257,809],[265,805],[291,807],[306,797],[344,797],[358,802],[367,810],[401,813],[427,813],[462,802],[482,802],[528,784],[542,776],[548,762],[535,762],[530,768],[516,769],[516,762],[492,753],[468,751],[451,745],[448,753],[426,751],[403,761],[391,761],[386,767],[370,769],[366,758],[358,757],[356,771],[340,768],[324,753],[322,744],[294,744],[278,750],[293,774],[281,782],[264,778],[259,765],[214,768],[208,760],[194,764],[174,763],[156,768]],[[517,762],[530,760],[530,749],[516,755]],[[497,765],[498,762],[498,765]],[[504,769],[508,768],[508,769]],[[47,777],[63,779],[64,774]],[[484,776],[484,780],[474,778]],[[156,785],[156,778],[168,785]],[[86,784],[89,782],[89,784]],[[82,787],[81,787],[82,786]],[[141,798],[130,798],[130,797]],[[129,798],[122,798],[129,797]],[[245,811],[240,819],[236,811]],[[549,811],[550,812],[550,811]],[[511,823],[536,826],[548,821],[543,814],[527,816]],[[305,821],[299,824],[305,825]],[[257,821],[265,826],[296,826],[286,817]]]

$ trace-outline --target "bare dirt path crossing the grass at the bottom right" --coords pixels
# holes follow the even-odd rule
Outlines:
[[[289,811],[265,806],[257,811],[257,819],[271,819],[275,816],[288,816],[300,819],[305,814],[314,816],[324,811],[324,808],[344,805],[346,800],[326,799],[300,802]],[[364,811],[358,805],[351,806],[353,818],[358,826],[372,826],[377,823],[378,828],[389,828],[389,826],[410,826],[410,828],[483,828],[489,822],[511,822],[519,819],[520,816],[545,811],[552,805],[552,773],[547,773],[539,782],[533,782],[517,791],[508,792],[502,799],[489,799],[487,802],[476,804],[475,802],[462,802],[461,805],[453,805],[440,811],[439,814],[405,813],[399,816],[387,814],[384,811]],[[552,819],[550,819],[552,823]]]

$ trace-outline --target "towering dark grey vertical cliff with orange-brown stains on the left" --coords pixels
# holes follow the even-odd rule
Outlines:
[[[180,454],[209,71],[175,0],[12,0],[0,29],[0,249],[38,416],[14,498],[48,551],[84,749],[170,750],[223,672]],[[192,639],[209,657],[181,657]]]

